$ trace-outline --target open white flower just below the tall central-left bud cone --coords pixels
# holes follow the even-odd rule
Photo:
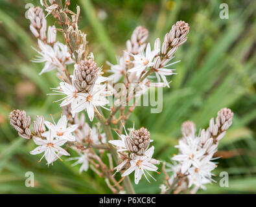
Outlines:
[[[106,99],[106,96],[108,95],[109,93],[108,91],[106,91],[106,86],[94,87],[93,91],[90,94],[81,93],[79,95],[79,102],[75,103],[75,105],[73,106],[71,105],[71,113],[73,114],[73,116],[75,116],[76,113],[79,113],[80,111],[86,109],[87,114],[89,116],[89,120],[92,121],[94,118],[94,110],[97,111],[97,113],[99,113],[97,106],[107,109],[106,107],[104,107],[104,105],[109,103]]]

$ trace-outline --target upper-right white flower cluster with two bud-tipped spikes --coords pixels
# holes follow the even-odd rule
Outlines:
[[[126,42],[127,50],[124,51],[124,56],[117,60],[117,65],[108,63],[109,72],[113,72],[110,76],[113,83],[117,83],[125,75],[128,83],[141,83],[146,88],[169,87],[166,76],[176,74],[175,69],[169,69],[169,67],[179,61],[169,62],[174,58],[178,47],[187,41],[188,33],[189,25],[184,21],[178,21],[172,26],[170,32],[165,34],[162,45],[160,39],[156,39],[154,50],[152,50],[150,43],[146,44],[148,30],[143,27],[135,28],[132,38]],[[133,60],[130,60],[130,57]],[[156,74],[157,84],[150,85],[150,78],[154,77],[148,75],[153,72]],[[141,89],[141,91],[146,90]]]

